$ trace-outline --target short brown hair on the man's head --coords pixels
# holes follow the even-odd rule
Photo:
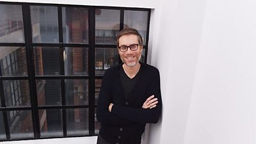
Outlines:
[[[119,47],[119,38],[123,35],[136,35],[140,46],[143,46],[143,40],[137,29],[127,28],[120,31],[116,37],[116,46]]]

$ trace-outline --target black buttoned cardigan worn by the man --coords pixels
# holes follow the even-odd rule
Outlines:
[[[161,114],[159,71],[141,63],[138,81],[125,100],[120,68],[122,65],[109,68],[102,79],[97,106],[97,119],[101,123],[99,134],[111,144],[139,144],[145,124],[157,123]],[[158,99],[156,108],[143,109],[143,102],[151,95]],[[108,106],[111,102],[114,106],[110,113]]]

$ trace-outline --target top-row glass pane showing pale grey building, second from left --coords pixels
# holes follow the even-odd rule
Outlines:
[[[34,43],[58,43],[57,6],[30,6]]]

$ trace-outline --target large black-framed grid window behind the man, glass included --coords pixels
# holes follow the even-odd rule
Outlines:
[[[0,3],[0,140],[94,136],[102,76],[120,29],[147,60],[150,9]]]

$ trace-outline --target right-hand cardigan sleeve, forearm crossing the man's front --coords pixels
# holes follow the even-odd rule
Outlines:
[[[153,123],[156,124],[159,120],[159,116],[161,115],[162,110],[162,99],[161,99],[161,90],[160,90],[160,76],[159,71],[157,70],[157,74],[155,73],[152,79],[152,83],[150,83],[150,88],[148,89],[150,95],[155,95],[158,100],[158,104],[156,108],[152,109],[143,109],[143,108],[131,108],[127,106],[122,106],[119,104],[114,104],[111,109],[111,113],[124,118],[125,120],[129,120],[131,122],[137,122],[141,124]],[[148,97],[150,97],[148,95]],[[142,105],[141,105],[142,106]]]

